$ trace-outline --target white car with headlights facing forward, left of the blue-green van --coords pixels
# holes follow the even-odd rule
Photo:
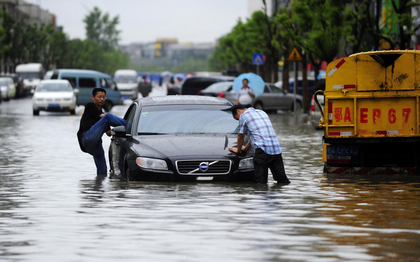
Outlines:
[[[68,80],[42,80],[32,97],[34,115],[39,111],[69,111],[75,115],[76,94]]]

